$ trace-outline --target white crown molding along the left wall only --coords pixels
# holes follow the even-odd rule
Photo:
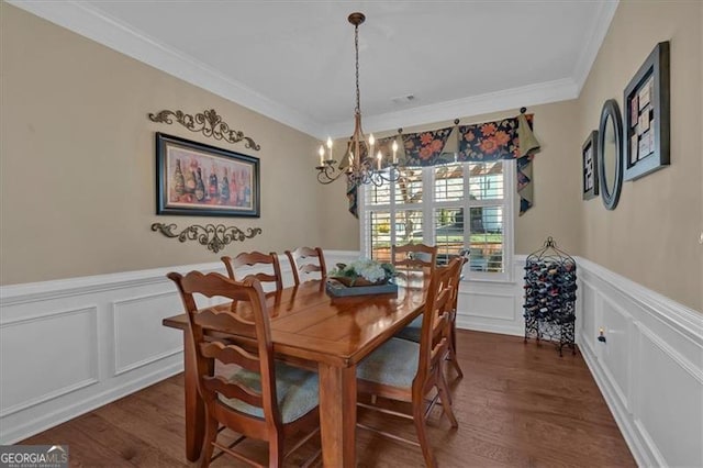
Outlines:
[[[308,115],[281,105],[196,58],[158,43],[90,4],[75,0],[5,1],[295,130],[310,135],[321,133],[322,125]]]

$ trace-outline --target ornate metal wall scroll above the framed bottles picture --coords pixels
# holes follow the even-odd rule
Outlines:
[[[183,111],[169,111],[163,110],[156,114],[149,113],[149,120],[152,122],[163,122],[167,124],[174,123],[171,116],[176,118],[176,121],[183,125],[191,132],[202,133],[203,135],[215,140],[224,140],[228,143],[239,143],[245,141],[244,146],[255,151],[261,149],[260,145],[248,136],[244,136],[244,132],[230,129],[226,122],[222,121],[222,116],[217,115],[214,109],[205,109],[202,113],[187,114]]]

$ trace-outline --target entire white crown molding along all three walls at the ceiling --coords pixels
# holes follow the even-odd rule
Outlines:
[[[335,138],[344,137],[348,136],[354,127],[352,120],[323,125],[304,113],[275,102],[243,83],[227,78],[193,57],[158,43],[85,2],[77,0],[4,1],[313,137],[320,140],[328,135]],[[594,34],[577,62],[574,78],[528,85],[384,114],[365,115],[365,130],[367,132],[389,131],[576,99],[607,33],[617,4],[618,0],[600,3],[593,24]]]

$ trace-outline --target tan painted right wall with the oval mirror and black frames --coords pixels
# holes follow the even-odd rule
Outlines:
[[[584,140],[660,41],[671,41],[671,166],[624,182],[620,204],[583,203],[582,255],[703,311],[703,2],[621,1],[579,97]],[[576,143],[576,142],[574,142]],[[576,148],[576,145],[574,145]]]

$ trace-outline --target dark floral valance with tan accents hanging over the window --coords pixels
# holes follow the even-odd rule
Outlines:
[[[532,158],[539,151],[533,132],[533,114],[521,113],[471,125],[455,125],[446,129],[417,133],[399,133],[379,141],[379,148],[391,160],[390,147],[399,143],[399,166],[436,166],[453,161],[491,161],[517,159],[517,193],[520,214],[533,205]],[[347,188],[349,211],[356,216],[356,188]]]

